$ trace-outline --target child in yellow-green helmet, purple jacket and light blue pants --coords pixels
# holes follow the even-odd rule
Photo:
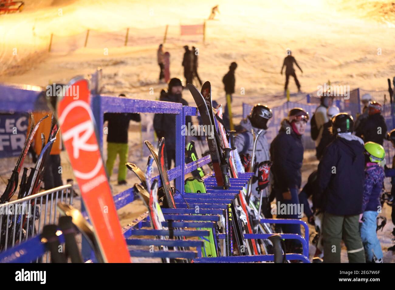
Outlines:
[[[360,232],[362,244],[365,249],[367,263],[382,263],[383,251],[376,234],[376,219],[381,209],[380,196],[384,182],[384,169],[380,163],[384,160],[386,152],[380,144],[365,143],[365,184],[363,190],[363,203]]]

